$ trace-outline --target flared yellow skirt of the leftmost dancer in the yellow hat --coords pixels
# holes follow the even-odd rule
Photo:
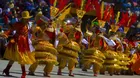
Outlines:
[[[19,64],[33,64],[35,62],[34,53],[31,52],[19,52],[16,44],[10,48],[6,48],[4,58],[17,61]]]

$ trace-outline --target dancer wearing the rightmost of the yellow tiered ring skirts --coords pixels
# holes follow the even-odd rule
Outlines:
[[[118,65],[120,66],[120,68],[115,69],[115,74],[119,75],[121,71],[123,70],[128,70],[127,65],[129,64],[129,58],[128,58],[128,53],[129,51],[127,50],[128,47],[126,46],[126,48],[124,47],[125,45],[123,45],[122,36],[123,33],[121,33],[120,31],[117,32],[117,38],[114,39],[114,41],[116,42],[116,46],[115,46],[115,51],[117,52],[117,54],[119,55],[118,57]],[[125,54],[127,52],[127,54]]]

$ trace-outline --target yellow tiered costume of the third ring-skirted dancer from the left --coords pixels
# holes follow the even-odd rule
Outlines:
[[[88,32],[86,32],[86,34],[88,34]],[[104,54],[100,51],[100,40],[101,38],[99,36],[96,36],[95,39],[88,40],[88,49],[83,51],[83,68],[88,69],[93,65],[94,76],[97,76],[98,72],[103,67],[102,64],[105,59]]]

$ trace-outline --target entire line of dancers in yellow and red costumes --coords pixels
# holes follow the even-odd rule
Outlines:
[[[0,34],[8,38],[14,32],[4,54],[4,58],[10,60],[3,70],[6,76],[10,76],[15,61],[21,65],[21,78],[26,77],[25,64],[31,65],[29,75],[35,75],[38,65],[45,65],[43,75],[46,77],[50,77],[54,65],[58,65],[58,75],[62,75],[68,65],[69,76],[74,77],[78,63],[82,70],[93,66],[93,76],[105,74],[105,71],[111,76],[125,72],[140,74],[140,44],[125,39],[121,29],[114,32],[112,28],[106,34],[105,28],[94,24],[83,33],[79,18],[75,23],[54,21],[41,13],[35,17],[36,25],[30,27],[31,17],[28,11],[23,11],[22,19]]]

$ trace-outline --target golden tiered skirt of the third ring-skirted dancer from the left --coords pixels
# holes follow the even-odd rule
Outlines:
[[[89,68],[91,64],[95,64],[102,68],[104,63],[105,56],[104,54],[97,50],[96,48],[89,48],[88,50],[83,51],[83,65],[84,67]]]

